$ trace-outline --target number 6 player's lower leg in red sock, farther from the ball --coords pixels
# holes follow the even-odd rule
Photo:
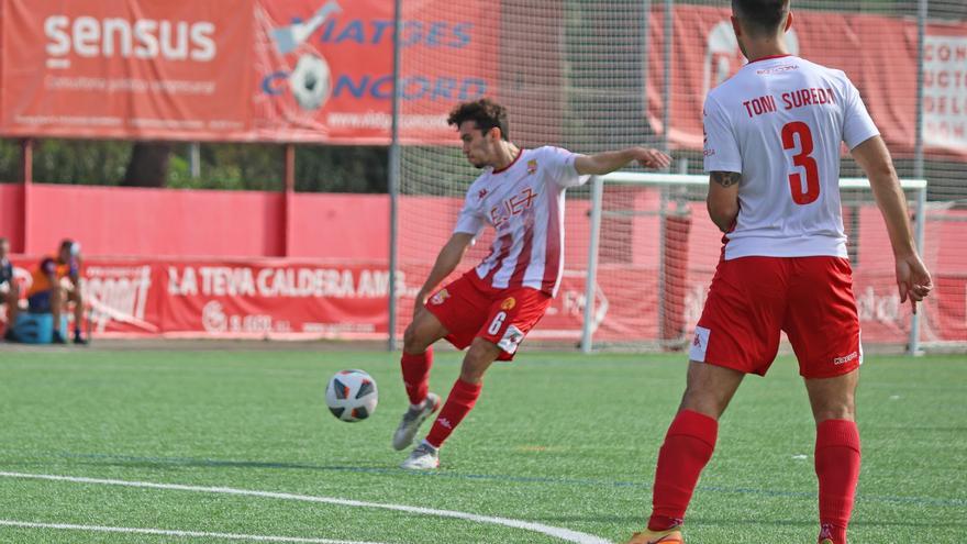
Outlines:
[[[446,398],[446,404],[433,423],[433,429],[403,462],[402,468],[422,470],[440,466],[440,446],[477,403],[480,389],[484,387],[484,375],[500,353],[501,349],[492,342],[480,337],[474,338],[474,343],[464,356],[460,378],[454,384]]]

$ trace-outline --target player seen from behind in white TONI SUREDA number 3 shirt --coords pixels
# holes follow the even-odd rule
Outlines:
[[[866,171],[900,299],[931,290],[892,160],[840,70],[789,55],[789,0],[733,0],[748,64],[704,108],[708,208],[724,248],[689,351],[686,391],[658,453],[647,528],[629,544],[682,543],[718,420],[746,374],[765,375],[785,331],[816,423],[821,544],[845,544],[859,476],[854,391],[863,348],[840,204],[840,146]],[[755,540],[753,537],[753,540]]]

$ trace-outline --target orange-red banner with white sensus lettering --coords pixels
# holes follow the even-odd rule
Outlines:
[[[251,129],[254,0],[3,0],[5,135],[171,137]]]

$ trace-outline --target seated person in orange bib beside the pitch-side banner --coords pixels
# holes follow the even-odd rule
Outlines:
[[[66,344],[60,331],[60,312],[74,303],[74,343],[87,344],[80,334],[84,322],[84,299],[80,285],[80,244],[64,240],[56,257],[44,257],[33,271],[26,292],[27,311],[54,315],[54,343]]]

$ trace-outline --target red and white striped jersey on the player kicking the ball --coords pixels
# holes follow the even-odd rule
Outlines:
[[[574,153],[559,147],[521,149],[501,170],[488,169],[467,191],[454,232],[497,230],[477,277],[496,289],[531,287],[552,297],[564,270],[564,192],[588,180]]]

